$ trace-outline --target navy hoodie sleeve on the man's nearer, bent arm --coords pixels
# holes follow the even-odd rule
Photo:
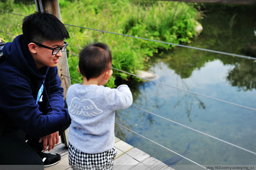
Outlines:
[[[33,137],[52,134],[70,124],[67,109],[43,115],[31,95],[28,78],[10,70],[10,68],[5,69],[5,74],[0,75],[0,114],[6,114],[15,125]],[[57,93],[58,97],[60,97],[59,93]],[[59,110],[62,104],[54,107]]]

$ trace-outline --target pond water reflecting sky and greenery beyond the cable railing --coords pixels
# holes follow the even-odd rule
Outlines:
[[[244,49],[256,45],[256,10],[223,6],[207,9],[200,21],[204,30],[189,45],[253,57]],[[129,82],[133,106],[256,152],[256,111],[187,92],[256,108],[255,60],[175,47],[150,62],[155,81],[168,86]],[[116,122],[179,154],[189,144],[185,157],[200,165],[256,165],[253,153],[134,107],[116,111]],[[115,135],[161,161],[177,156],[119,125]],[[182,165],[195,164],[183,158],[172,167]]]

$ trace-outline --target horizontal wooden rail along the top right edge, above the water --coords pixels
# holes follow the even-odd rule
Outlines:
[[[160,1],[256,5],[256,0],[160,0]]]

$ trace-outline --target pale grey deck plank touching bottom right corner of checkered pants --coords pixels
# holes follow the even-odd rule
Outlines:
[[[138,148],[132,149],[131,151],[127,152],[127,154],[124,154],[114,160],[114,170],[130,169],[140,164],[141,161],[150,158],[150,155],[139,150]],[[133,158],[136,158],[137,160]]]

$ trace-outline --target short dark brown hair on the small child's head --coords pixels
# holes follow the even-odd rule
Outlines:
[[[112,55],[109,46],[104,43],[91,42],[80,52],[80,73],[87,78],[97,78],[111,69]]]

